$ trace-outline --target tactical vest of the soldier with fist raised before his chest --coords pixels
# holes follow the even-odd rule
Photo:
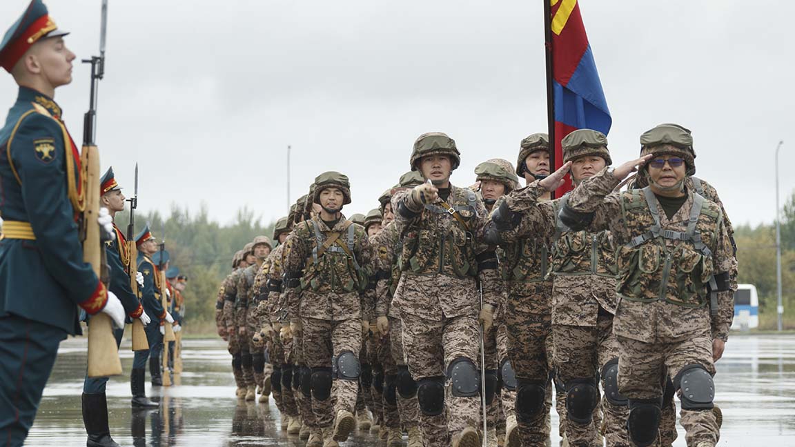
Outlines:
[[[477,216],[477,196],[469,189],[456,189],[451,193],[452,204],[425,205],[425,212],[417,227],[409,229],[403,236],[401,270],[407,274],[444,274],[454,278],[466,278],[478,274],[475,260],[475,238],[470,231],[471,220]],[[463,200],[465,204],[460,204]],[[443,215],[451,216],[449,220]],[[449,229],[429,224],[429,220],[449,223]]]

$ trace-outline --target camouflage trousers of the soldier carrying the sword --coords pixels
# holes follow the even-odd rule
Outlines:
[[[475,365],[479,363],[480,333],[475,315],[445,318],[443,321],[426,320],[403,313],[403,348],[406,363],[414,380],[444,378],[453,360],[463,357]],[[419,412],[419,426],[426,445],[446,445],[464,428],[478,429],[480,423],[480,396],[458,397],[452,395],[452,381],[445,380],[444,413],[428,416]]]

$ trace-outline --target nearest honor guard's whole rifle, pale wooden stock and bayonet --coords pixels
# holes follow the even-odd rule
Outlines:
[[[99,33],[99,56],[83,60],[91,64],[91,98],[83,119],[83,149],[80,161],[83,168],[83,188],[86,206],[81,223],[83,236],[83,261],[94,267],[97,277],[107,286],[108,272],[105,249],[100,240],[99,222],[99,149],[96,146],[97,91],[99,80],[105,75],[105,35],[107,30],[107,0],[102,2],[102,25]],[[107,377],[122,374],[118,358],[118,345],[113,335],[111,317],[104,313],[91,316],[88,321],[88,371],[89,377]]]

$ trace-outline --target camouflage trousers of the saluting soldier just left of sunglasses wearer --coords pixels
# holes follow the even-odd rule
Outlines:
[[[604,364],[619,356],[619,347],[613,335],[613,315],[599,309],[596,326],[554,325],[554,359],[556,374],[564,385],[576,379],[594,379]],[[615,405],[602,399],[604,437],[607,447],[626,447],[626,405]],[[566,422],[566,437],[572,447],[593,445],[599,438],[599,425]],[[598,441],[597,445],[601,445]]]

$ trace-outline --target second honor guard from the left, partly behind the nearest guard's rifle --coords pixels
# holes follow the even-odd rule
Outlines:
[[[116,213],[124,209],[124,195],[122,189],[114,177],[113,168],[109,168],[100,180],[100,200],[103,207],[107,208],[111,217],[115,218]],[[122,301],[127,317],[139,318],[144,326],[149,324],[149,316],[144,313],[144,308],[138,296],[130,288],[130,274],[127,266],[130,265],[130,249],[126,243],[124,233],[113,223],[116,238],[108,241],[106,246],[107,263],[110,267],[111,284],[109,290],[115,293]],[[143,275],[138,274],[138,284],[142,285]],[[115,328],[113,335],[116,337],[116,344],[122,344],[124,328]],[[111,437],[111,430],[107,422],[107,397],[105,386],[107,377],[89,378],[86,375],[83,381],[83,425],[88,434],[87,445],[93,446],[114,446],[117,445]]]

